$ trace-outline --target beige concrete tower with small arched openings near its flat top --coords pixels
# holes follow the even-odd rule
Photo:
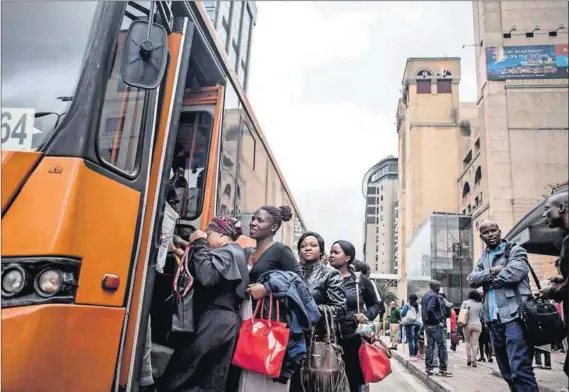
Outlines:
[[[396,115],[400,298],[407,298],[410,239],[433,211],[458,210],[460,78],[459,58],[407,60]]]

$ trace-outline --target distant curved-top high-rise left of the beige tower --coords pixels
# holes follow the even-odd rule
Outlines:
[[[364,257],[372,273],[392,274],[394,214],[397,202],[397,158],[389,156],[369,169],[362,193],[366,199]]]

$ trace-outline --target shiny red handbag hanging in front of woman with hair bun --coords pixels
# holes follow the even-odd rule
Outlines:
[[[231,363],[250,372],[279,377],[286,354],[290,335],[286,323],[279,321],[279,302],[277,319],[271,321],[273,296],[269,296],[269,319],[255,318],[259,307],[264,308],[265,299],[258,301],[253,316],[243,321],[237,338],[237,347]]]

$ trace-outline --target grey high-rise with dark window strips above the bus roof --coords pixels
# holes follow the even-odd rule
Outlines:
[[[247,91],[253,29],[257,21],[255,1],[204,1],[233,70]]]

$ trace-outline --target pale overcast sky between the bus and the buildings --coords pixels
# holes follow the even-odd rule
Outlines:
[[[308,229],[362,256],[366,171],[397,156],[408,57],[461,57],[476,99],[472,3],[258,1],[249,98]]]

